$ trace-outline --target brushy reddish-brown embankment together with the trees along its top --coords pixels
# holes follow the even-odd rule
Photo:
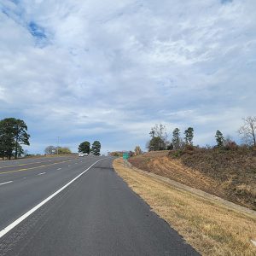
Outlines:
[[[135,153],[129,161],[144,171],[256,210],[255,131],[256,117],[247,117],[238,130],[240,145],[216,131],[216,145],[202,148],[193,144],[192,127],[183,132],[183,137],[178,128],[174,129],[168,142],[166,127],[154,125],[149,132],[149,152]]]

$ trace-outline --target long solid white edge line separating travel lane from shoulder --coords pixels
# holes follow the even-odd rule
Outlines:
[[[17,224],[20,224],[21,221],[26,219],[28,216],[30,216],[33,212],[37,211],[38,208],[44,206],[45,203],[47,203],[49,200],[51,200],[55,195],[58,195],[63,189],[66,189],[67,186],[69,186],[71,183],[73,183],[75,180],[77,180],[79,177],[81,177],[85,172],[89,171],[92,166],[95,166],[97,162],[106,160],[108,158],[103,158],[100,160],[97,160],[94,164],[92,164],[90,167],[88,167],[84,172],[81,172],[77,177],[74,177],[73,180],[71,180],[69,183],[64,185],[61,189],[58,189],[54,194],[49,195],[44,201],[41,201],[37,206],[33,207],[31,210],[20,216],[20,218],[17,218],[13,223],[9,224],[7,227],[5,227],[3,230],[0,231],[0,238],[2,238],[5,234],[7,234],[10,230],[14,229]]]

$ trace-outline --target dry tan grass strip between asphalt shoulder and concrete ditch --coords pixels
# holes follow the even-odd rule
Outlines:
[[[119,176],[161,218],[202,255],[256,255],[256,218],[208,201],[131,168],[121,159],[113,167]]]

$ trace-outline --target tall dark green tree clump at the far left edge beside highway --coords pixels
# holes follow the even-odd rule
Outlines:
[[[23,120],[8,118],[0,120],[0,154],[2,157],[15,159],[22,152],[21,145],[29,145],[27,126]]]

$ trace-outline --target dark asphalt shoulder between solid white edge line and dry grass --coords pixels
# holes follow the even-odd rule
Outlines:
[[[102,160],[3,236],[0,255],[198,254]]]

